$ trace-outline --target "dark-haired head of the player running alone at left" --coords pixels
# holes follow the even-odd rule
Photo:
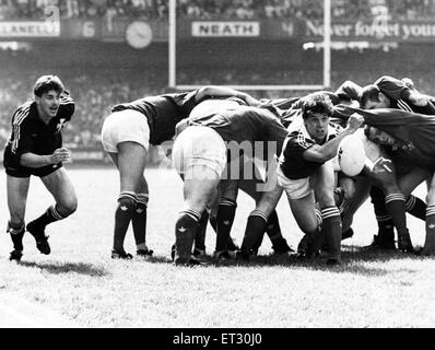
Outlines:
[[[56,75],[43,75],[36,81],[33,92],[40,117],[50,118],[57,115],[63,90],[62,82]]]

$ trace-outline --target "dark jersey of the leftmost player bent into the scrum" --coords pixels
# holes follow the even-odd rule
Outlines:
[[[150,143],[161,144],[171,140],[175,135],[175,126],[189,116],[196,102],[198,91],[148,96],[130,103],[119,104],[111,112],[133,109],[140,112],[148,119],[150,126]]]

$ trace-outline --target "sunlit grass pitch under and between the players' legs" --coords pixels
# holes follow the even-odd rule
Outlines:
[[[51,224],[51,254],[40,255],[24,236],[21,264],[8,261],[12,244],[0,235],[2,293],[47,307],[83,327],[433,327],[433,258],[401,253],[366,253],[361,247],[376,233],[367,201],[357,212],[355,236],[343,241],[343,265],[297,262],[269,256],[267,237],[249,265],[210,262],[175,267],[169,260],[174,225],[183,207],[181,182],[175,171],[145,171],[150,185],[148,245],[152,261],[110,259],[114,211],[119,192],[114,168],[70,170],[79,196],[71,218]],[[415,191],[424,199],[425,189]],[[0,222],[7,225],[5,176],[0,176]],[[26,221],[52,203],[42,183],[32,180]],[[254,201],[240,192],[233,237],[242,242]],[[281,226],[295,247],[302,237],[283,197]],[[424,243],[424,223],[409,218],[414,245]],[[207,247],[212,254],[209,226]],[[134,253],[133,235],[126,249]],[[7,325],[8,326],[8,325]]]

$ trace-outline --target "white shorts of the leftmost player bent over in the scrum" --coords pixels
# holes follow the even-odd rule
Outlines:
[[[114,112],[103,124],[102,143],[106,152],[118,153],[118,143],[136,142],[150,149],[150,127],[146,117],[133,109]]]

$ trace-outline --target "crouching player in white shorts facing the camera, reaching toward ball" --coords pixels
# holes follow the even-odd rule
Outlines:
[[[331,160],[341,140],[354,133],[363,124],[360,115],[351,116],[345,129],[329,122],[333,106],[322,93],[307,95],[302,105],[302,122],[289,128],[280,156],[278,182],[287,195],[293,215],[301,230],[316,241],[326,240],[329,246],[328,264],[341,261],[341,218],[333,190],[336,174]],[[321,210],[316,212],[316,201]],[[307,241],[311,241],[307,240]],[[307,253],[299,245],[299,253]]]

